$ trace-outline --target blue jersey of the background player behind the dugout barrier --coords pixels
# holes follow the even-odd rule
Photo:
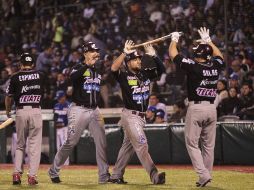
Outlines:
[[[70,103],[66,101],[63,104],[56,103],[54,106],[54,120],[56,123],[61,124],[63,126],[67,126],[68,124],[68,117],[67,111],[69,108]]]

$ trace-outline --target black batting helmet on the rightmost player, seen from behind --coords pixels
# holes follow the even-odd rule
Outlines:
[[[208,44],[199,44],[193,47],[194,57],[209,60],[213,54],[213,49]]]

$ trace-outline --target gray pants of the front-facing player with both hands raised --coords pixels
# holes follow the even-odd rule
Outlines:
[[[136,152],[142,166],[145,168],[153,183],[158,181],[158,170],[148,152],[147,139],[143,130],[145,119],[132,114],[131,110],[123,109],[121,125],[124,130],[124,140],[118,153],[111,178],[122,178],[125,168]]]

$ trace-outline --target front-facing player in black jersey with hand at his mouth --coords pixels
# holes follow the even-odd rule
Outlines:
[[[78,143],[84,129],[89,129],[96,146],[99,183],[109,180],[106,157],[106,136],[104,121],[97,107],[100,97],[101,73],[95,67],[99,59],[99,48],[93,42],[83,46],[84,62],[72,68],[70,79],[73,84],[72,103],[68,110],[68,136],[57,152],[48,174],[53,183],[60,183],[59,172],[73,147]]]

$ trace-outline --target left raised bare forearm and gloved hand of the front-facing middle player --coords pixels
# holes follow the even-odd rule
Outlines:
[[[134,46],[134,42],[132,40],[127,40],[124,45],[123,53],[114,60],[112,66],[111,66],[111,71],[118,71],[124,61],[124,58],[127,54],[130,54],[134,52],[135,50],[131,50],[131,46]]]

